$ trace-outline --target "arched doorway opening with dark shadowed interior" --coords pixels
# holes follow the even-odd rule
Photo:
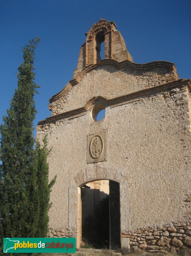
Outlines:
[[[77,247],[120,248],[120,184],[93,180],[78,187],[77,220]]]

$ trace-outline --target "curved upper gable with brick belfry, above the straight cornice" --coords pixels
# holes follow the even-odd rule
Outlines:
[[[100,19],[85,35],[73,79],[49,100],[52,115],[81,108],[93,97],[112,100],[178,79],[171,62],[134,63],[114,21]]]

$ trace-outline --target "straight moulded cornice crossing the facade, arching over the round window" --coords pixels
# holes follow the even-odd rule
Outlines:
[[[110,106],[110,108],[114,108],[114,107],[117,107],[120,105],[124,105],[124,104],[128,104],[128,103],[131,103],[134,101],[141,100],[146,95],[150,95],[150,94],[157,93],[157,92],[162,92],[162,91],[173,89],[177,86],[183,86],[183,85],[187,86],[189,88],[189,90],[191,91],[191,79],[182,79],[181,78],[181,79],[178,79],[173,82],[168,82],[167,84],[158,85],[158,86],[144,89],[144,90],[141,90],[138,92],[133,92],[133,93],[130,93],[130,94],[127,94],[127,95],[124,95],[121,97],[117,97],[114,99],[110,99],[110,100],[107,100],[102,97],[93,97],[91,100],[89,100],[84,105],[84,107],[70,110],[67,112],[63,112],[63,113],[57,114],[55,116],[47,117],[46,119],[39,121],[38,125],[55,122],[55,121],[63,119],[63,118],[71,119],[71,118],[76,118],[78,116],[83,116],[86,114],[89,106],[98,100],[105,101],[105,103],[107,103],[107,105]],[[180,92],[184,92],[184,91],[186,91],[186,90],[182,89],[181,91],[177,91],[176,93],[180,93]]]

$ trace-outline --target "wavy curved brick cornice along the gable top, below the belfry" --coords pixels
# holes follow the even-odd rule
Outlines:
[[[167,68],[167,67],[176,70],[174,63],[163,61],[163,60],[152,61],[144,64],[138,64],[138,63],[130,62],[128,60],[125,60],[122,62],[117,62],[116,60],[110,60],[110,59],[101,60],[94,65],[89,65],[85,67],[82,70],[82,72],[80,72],[74,79],[70,80],[60,92],[53,95],[52,98],[49,99],[49,102],[51,103],[55,100],[58,100],[62,96],[65,96],[71,90],[72,86],[75,86],[76,84],[80,83],[83,77],[88,72],[92,71],[95,68],[106,66],[106,65],[115,66],[119,70],[125,67],[136,69],[136,70],[145,70],[145,71],[150,70],[151,68]]]

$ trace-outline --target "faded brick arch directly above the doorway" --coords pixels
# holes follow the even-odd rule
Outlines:
[[[127,182],[123,173],[125,173],[125,170],[104,168],[96,165],[94,168],[87,168],[77,172],[73,179],[75,180],[77,187],[82,187],[84,184],[94,180],[114,180],[119,183],[122,181]]]

